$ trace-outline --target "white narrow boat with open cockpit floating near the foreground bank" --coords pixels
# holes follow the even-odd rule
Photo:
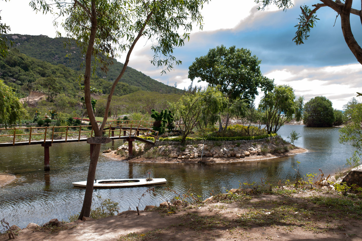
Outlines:
[[[131,179],[105,179],[105,180],[94,180],[93,188],[127,188],[133,186],[150,186],[165,184],[165,178],[152,178],[147,181],[147,178],[131,178]],[[85,187],[87,181],[72,182],[73,186]]]

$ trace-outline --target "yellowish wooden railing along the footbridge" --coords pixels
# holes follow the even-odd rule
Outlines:
[[[107,132],[108,137],[117,137],[117,135],[118,137],[131,137],[132,135],[136,136],[139,135],[139,133],[143,133],[142,135],[144,135],[145,139],[147,139],[147,137],[153,137],[155,141],[158,136],[158,132],[140,124],[109,124],[105,125],[103,130],[104,135],[107,135]],[[67,142],[67,140],[80,141],[81,138],[92,136],[93,128],[89,125],[0,128],[0,143],[13,143],[13,145],[17,142],[29,142],[29,144],[31,141],[53,142],[54,140],[64,138],[64,142]]]

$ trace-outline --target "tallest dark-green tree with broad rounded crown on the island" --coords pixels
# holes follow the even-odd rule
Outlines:
[[[244,48],[231,46],[218,46],[211,48],[207,55],[196,58],[189,66],[188,77],[193,80],[200,78],[200,81],[206,81],[209,86],[218,87],[229,99],[229,105],[226,106],[226,126],[232,114],[241,115],[242,113],[233,112],[239,110],[235,107],[241,104],[240,100],[246,100],[249,104],[258,94],[257,88],[262,91],[271,91],[274,87],[273,80],[266,78],[260,71],[260,60],[251,51]],[[234,105],[234,106],[233,106]],[[219,131],[223,128],[219,122]]]

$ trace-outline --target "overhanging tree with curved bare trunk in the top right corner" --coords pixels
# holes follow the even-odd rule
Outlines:
[[[269,5],[276,5],[279,9],[286,10],[293,6],[292,0],[254,0],[256,3],[261,3],[261,7],[259,9],[264,10]],[[346,0],[346,1],[333,1],[333,0],[319,0],[321,3],[313,4],[311,9],[307,5],[301,5],[300,9],[302,10],[302,14],[299,15],[298,23],[294,26],[297,28],[295,32],[295,36],[293,38],[296,44],[303,44],[304,40],[307,40],[309,37],[309,32],[311,29],[316,25],[317,18],[316,12],[318,9],[322,7],[329,7],[332,10],[337,12],[337,17],[340,16],[341,18],[341,29],[345,39],[345,42],[349,49],[352,51],[353,55],[356,57],[357,61],[362,64],[362,48],[358,45],[357,41],[355,40],[350,23],[350,15],[354,14],[357,15],[359,18],[362,19],[361,9],[354,9],[352,8],[353,0]],[[362,24],[362,20],[361,20]]]

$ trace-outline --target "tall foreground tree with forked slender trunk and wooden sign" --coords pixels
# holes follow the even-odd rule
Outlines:
[[[66,37],[74,41],[84,55],[84,101],[94,134],[101,136],[107,120],[115,86],[122,78],[136,43],[146,38],[151,43],[151,63],[162,67],[162,73],[181,64],[173,56],[177,46],[189,39],[192,24],[201,28],[200,9],[208,0],[32,0],[34,10],[52,12],[63,18]],[[59,19],[59,18],[58,18]],[[60,33],[58,33],[60,36]],[[105,106],[102,124],[98,126],[90,102],[90,79],[97,66],[107,71],[112,59],[125,54],[121,73],[114,80]],[[87,187],[79,219],[89,217],[93,180],[101,146],[96,144],[90,159]]]

